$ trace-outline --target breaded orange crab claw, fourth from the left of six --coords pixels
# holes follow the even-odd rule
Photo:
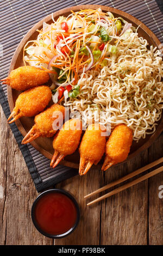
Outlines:
[[[51,167],[55,168],[65,156],[71,155],[78,148],[82,135],[82,122],[79,119],[70,119],[65,122],[53,140],[54,155]]]

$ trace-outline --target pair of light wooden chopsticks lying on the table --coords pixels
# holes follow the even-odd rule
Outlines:
[[[108,188],[113,187],[113,186],[115,186],[117,184],[120,184],[121,182],[123,182],[125,180],[128,180],[128,179],[130,179],[130,178],[132,178],[132,177],[134,177],[134,176],[136,176],[136,175],[138,175],[138,174],[140,174],[142,172],[145,172],[145,170],[148,170],[148,169],[150,169],[150,168],[152,168],[152,167],[154,167],[154,166],[156,166],[156,165],[158,165],[159,163],[162,163],[162,162],[163,162],[163,157],[161,157],[160,159],[158,159],[158,160],[156,160],[156,161],[154,161],[152,163],[147,164],[147,166],[144,166],[144,167],[142,167],[142,168],[140,168],[138,170],[135,170],[135,172],[132,172],[132,173],[124,176],[123,178],[121,178],[119,180],[113,181],[110,184],[108,184],[108,185],[106,185],[104,187],[101,187],[98,190],[96,190],[96,191],[94,191],[94,192],[92,192],[90,194],[87,194],[84,198],[91,197],[94,194],[97,194],[99,192],[107,190]],[[150,173],[147,173],[147,174],[141,176],[140,178],[138,178],[136,180],[133,180],[133,181],[129,182],[128,184],[124,184],[123,186],[118,187],[115,190],[112,190],[112,191],[110,191],[107,194],[104,194],[104,196],[102,196],[102,197],[98,197],[97,199],[93,200],[92,202],[88,203],[87,205],[92,205],[94,203],[97,203],[97,202],[105,199],[105,198],[111,197],[114,194],[117,194],[117,193],[119,193],[119,192],[121,192],[123,190],[126,190],[128,187],[134,186],[135,184],[137,184],[137,183],[139,183],[139,182],[141,182],[143,180],[146,180],[146,179],[154,176],[155,174],[158,174],[158,173],[162,172],[162,170],[163,170],[163,166],[153,170]]]

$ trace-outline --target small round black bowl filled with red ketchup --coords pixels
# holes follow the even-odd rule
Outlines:
[[[71,234],[80,218],[79,206],[65,190],[42,192],[32,206],[32,221],[43,235],[57,239]]]

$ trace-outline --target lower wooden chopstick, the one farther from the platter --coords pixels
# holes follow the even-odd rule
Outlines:
[[[162,170],[163,170],[163,166],[159,167],[158,169],[153,170],[151,173],[147,173],[147,174],[141,176],[140,178],[129,182],[128,184],[124,184],[123,186],[118,187],[115,190],[112,190],[112,191],[110,191],[107,194],[104,194],[104,196],[99,197],[99,198],[93,200],[92,202],[88,203],[87,205],[92,205],[92,204],[95,204],[95,203],[105,199],[105,198],[111,197],[114,194],[117,194],[117,193],[119,193],[119,192],[121,192],[123,190],[126,190],[128,187],[131,187],[131,186],[133,186],[133,185],[135,185],[135,184],[137,184],[137,183],[139,183],[139,182],[141,182],[143,180],[146,180],[146,179],[154,176],[155,174],[158,174],[158,173],[162,172]]]

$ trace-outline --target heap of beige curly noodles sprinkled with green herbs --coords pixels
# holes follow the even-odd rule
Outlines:
[[[124,123],[133,130],[135,141],[154,133],[162,111],[163,62],[160,51],[147,45],[136,32],[128,34],[123,45],[118,41],[116,56],[108,56],[103,69],[83,72],[78,80],[81,93],[64,105],[79,111],[86,125],[90,113],[96,121],[103,111],[100,124],[110,123],[112,129]]]

